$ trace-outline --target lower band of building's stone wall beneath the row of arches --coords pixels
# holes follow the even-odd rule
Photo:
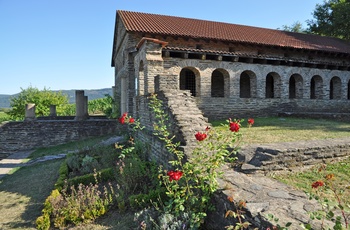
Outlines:
[[[349,100],[312,100],[285,98],[196,97],[198,107],[210,121],[218,119],[293,115],[350,120]]]

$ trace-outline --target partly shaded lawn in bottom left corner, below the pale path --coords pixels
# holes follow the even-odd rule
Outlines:
[[[35,220],[54,188],[61,162],[22,167],[0,180],[1,229],[35,229]]]

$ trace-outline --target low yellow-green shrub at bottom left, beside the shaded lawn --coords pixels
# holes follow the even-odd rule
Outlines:
[[[43,215],[36,221],[37,228],[48,229],[51,223],[57,228],[65,228],[70,224],[93,221],[107,212],[116,197],[111,184],[101,188],[97,181],[95,185],[65,187],[61,193],[53,190],[45,201]]]

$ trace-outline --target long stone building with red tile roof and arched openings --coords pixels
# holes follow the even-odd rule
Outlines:
[[[120,112],[188,90],[209,119],[348,113],[350,43],[311,34],[117,11],[112,66]]]

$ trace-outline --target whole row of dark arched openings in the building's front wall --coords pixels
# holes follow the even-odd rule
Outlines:
[[[229,80],[225,79],[223,71],[216,69],[211,75],[211,97],[225,97],[229,96],[229,92],[226,84],[229,84]],[[197,77],[198,78],[198,77]],[[305,84],[309,81],[308,84]],[[311,79],[303,77],[299,74],[293,74],[289,77],[288,81],[288,98],[289,99],[342,99],[342,84],[346,84],[347,99],[350,100],[350,80],[347,82],[341,82],[338,76],[333,76],[329,82],[326,82],[323,77],[319,75],[312,76]],[[180,85],[181,90],[190,90],[192,96],[197,96],[196,90],[196,74],[189,68],[183,68],[180,72]],[[257,85],[257,76],[252,71],[243,71],[239,76],[239,97],[240,98],[255,98],[257,97],[257,87],[263,87]],[[268,73],[265,76],[265,95],[264,98],[281,98],[282,89],[281,76],[276,72]],[[308,95],[304,94],[304,91],[308,89]],[[326,96],[326,92],[329,95]],[[260,97],[261,98],[261,97]]]

